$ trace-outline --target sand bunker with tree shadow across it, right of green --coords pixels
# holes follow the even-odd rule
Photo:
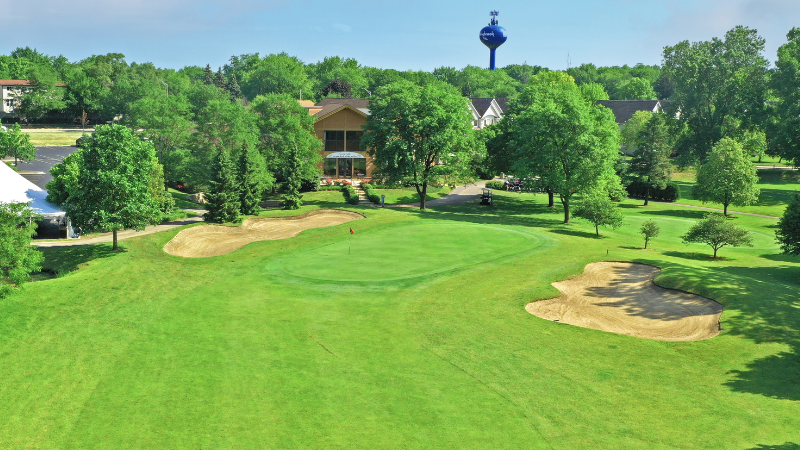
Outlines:
[[[719,334],[722,305],[656,286],[659,272],[645,264],[587,264],[583,275],[553,283],[561,296],[529,303],[525,310],[547,320],[659,341]]]

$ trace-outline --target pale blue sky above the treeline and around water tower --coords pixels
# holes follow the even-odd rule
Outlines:
[[[77,61],[118,52],[175,69],[278,52],[398,70],[487,67],[478,32],[492,9],[509,36],[498,67],[564,69],[568,56],[572,66],[659,64],[664,46],[736,25],[757,29],[774,61],[800,26],[800,0],[0,0],[0,53],[30,46]]]

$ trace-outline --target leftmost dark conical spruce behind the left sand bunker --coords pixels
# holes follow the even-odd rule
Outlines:
[[[239,218],[239,190],[230,155],[220,149],[211,168],[211,190],[206,195],[206,222],[234,222]]]

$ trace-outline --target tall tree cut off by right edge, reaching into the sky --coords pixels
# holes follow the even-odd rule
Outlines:
[[[789,42],[778,49],[778,61],[770,87],[779,102],[767,128],[771,154],[800,165],[800,28],[786,35]]]

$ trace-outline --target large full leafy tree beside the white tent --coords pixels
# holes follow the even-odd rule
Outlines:
[[[152,197],[155,149],[119,125],[100,125],[83,144],[78,181],[64,203],[74,226],[84,232],[143,230],[162,217]]]

